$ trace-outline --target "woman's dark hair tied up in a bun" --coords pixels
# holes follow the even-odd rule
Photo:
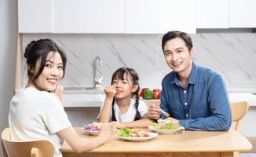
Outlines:
[[[25,53],[24,53],[24,57],[27,59],[26,60],[27,75],[29,78],[32,79],[33,82],[35,81],[35,79],[38,78],[39,75],[41,75],[43,69],[45,68],[46,57],[50,52],[53,52],[53,56],[55,53],[60,53],[60,57],[61,57],[62,64],[63,64],[63,77],[64,77],[66,64],[67,64],[66,53],[64,53],[64,51],[61,50],[59,48],[59,46],[57,46],[57,44],[55,42],[53,42],[51,39],[48,39],[48,38],[39,39],[37,41],[30,42],[27,45],[27,47],[25,49]],[[39,71],[35,76],[33,76],[31,74],[31,68],[35,69],[36,62],[37,62],[37,60],[40,60],[40,59],[41,59],[41,63],[40,63]]]

